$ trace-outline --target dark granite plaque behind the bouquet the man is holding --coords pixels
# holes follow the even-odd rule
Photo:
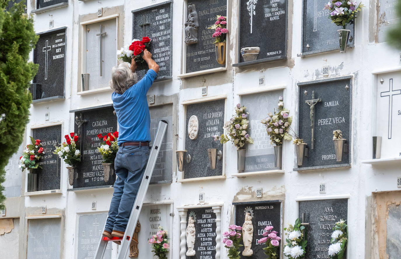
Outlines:
[[[173,1],[132,11],[132,38],[152,39],[149,51],[160,66],[156,80],[172,78],[172,18]],[[141,79],[146,70],[137,71]]]

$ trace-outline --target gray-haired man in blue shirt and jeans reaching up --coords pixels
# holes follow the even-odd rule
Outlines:
[[[124,236],[149,158],[150,114],[146,93],[159,66],[146,49],[142,58],[148,63],[149,70],[139,82],[134,58],[131,67],[121,63],[111,69],[110,87],[114,90],[111,99],[119,125],[119,149],[114,160],[117,178],[103,231],[103,236],[108,238]],[[114,242],[121,244],[121,241]],[[132,238],[132,242],[138,243],[138,240]]]

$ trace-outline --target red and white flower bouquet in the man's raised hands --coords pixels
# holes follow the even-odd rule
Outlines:
[[[131,60],[135,57],[135,62],[138,65],[138,70],[145,69],[145,60],[142,58],[144,50],[149,49],[151,39],[142,37],[142,40],[133,39],[130,46],[125,46],[117,51],[118,59],[131,64]],[[145,63],[145,64],[144,64]]]

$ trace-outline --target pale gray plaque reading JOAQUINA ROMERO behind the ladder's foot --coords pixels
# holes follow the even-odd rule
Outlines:
[[[103,233],[103,226],[107,219],[107,213],[79,215],[78,219],[78,257],[77,259],[93,258]],[[107,248],[103,259],[111,258],[111,243]]]

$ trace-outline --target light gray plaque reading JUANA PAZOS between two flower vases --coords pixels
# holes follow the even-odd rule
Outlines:
[[[283,95],[283,90],[241,96],[241,105],[247,107],[246,111],[249,112],[249,135],[253,138],[253,144],[247,145],[244,172],[277,169],[273,145],[270,144],[265,125],[260,121],[277,108],[280,95]]]

